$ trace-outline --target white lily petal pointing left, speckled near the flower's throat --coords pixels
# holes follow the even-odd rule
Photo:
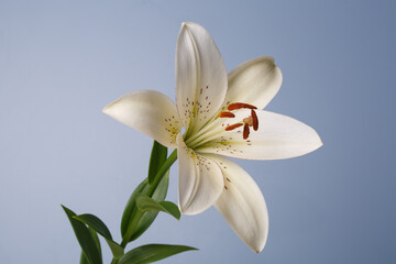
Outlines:
[[[103,112],[161,144],[176,148],[182,129],[176,105],[154,90],[132,91],[105,107]]]

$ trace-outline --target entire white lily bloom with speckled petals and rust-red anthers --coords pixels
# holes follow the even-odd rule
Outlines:
[[[251,59],[227,75],[212,37],[189,22],[177,40],[176,105],[158,91],[138,90],[103,112],[177,148],[180,211],[196,215],[213,205],[258,253],[268,233],[264,197],[249,174],[223,156],[278,160],[322,145],[310,127],[261,110],[280,85],[282,73],[271,57]]]

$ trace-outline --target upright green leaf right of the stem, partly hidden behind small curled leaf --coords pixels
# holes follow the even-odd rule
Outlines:
[[[166,173],[164,178],[160,182],[158,187],[155,189],[152,198],[158,202],[163,201],[166,197],[168,186],[169,186],[169,170]],[[158,215],[158,211],[144,212],[143,217],[139,221],[136,229],[133,232],[130,241],[134,241],[139,237],[141,237],[151,227],[151,224],[154,222],[157,215]]]

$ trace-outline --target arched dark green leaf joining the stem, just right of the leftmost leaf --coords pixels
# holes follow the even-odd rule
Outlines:
[[[92,230],[98,232],[100,235],[102,235],[106,239],[106,242],[109,244],[110,250],[114,257],[119,257],[119,256],[123,255],[123,253],[124,253],[123,248],[112,240],[112,237],[111,237],[111,233],[110,233],[108,227],[106,227],[103,221],[100,220],[98,217],[90,215],[90,213],[84,213],[84,215],[75,216],[73,218],[84,222],[89,228],[91,228]]]

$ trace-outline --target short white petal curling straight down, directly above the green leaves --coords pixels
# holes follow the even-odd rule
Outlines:
[[[177,135],[178,204],[184,215],[205,211],[219,198],[224,188],[219,166],[186,146]]]

